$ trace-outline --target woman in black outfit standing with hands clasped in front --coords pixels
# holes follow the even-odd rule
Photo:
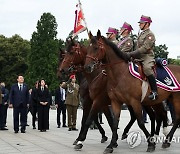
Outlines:
[[[49,129],[50,94],[45,81],[40,80],[38,88],[38,130],[45,132]]]

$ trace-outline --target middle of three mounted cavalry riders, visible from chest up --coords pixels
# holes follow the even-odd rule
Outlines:
[[[132,26],[127,22],[124,22],[120,29],[120,35],[122,36],[118,43],[118,48],[123,52],[131,52],[133,50],[133,40],[130,37],[130,32],[133,30]]]

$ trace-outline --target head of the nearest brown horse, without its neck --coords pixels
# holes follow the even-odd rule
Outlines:
[[[93,36],[91,32],[89,32],[90,44],[87,48],[86,62],[85,62],[85,70],[89,73],[93,72],[101,61],[105,57],[105,44],[103,41],[103,36],[101,36],[100,30],[97,32],[97,36]]]

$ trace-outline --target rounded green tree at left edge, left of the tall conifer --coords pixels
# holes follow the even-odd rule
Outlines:
[[[0,35],[0,80],[4,81],[8,88],[17,82],[19,74],[25,74],[29,52],[30,42],[19,35],[10,38]]]

